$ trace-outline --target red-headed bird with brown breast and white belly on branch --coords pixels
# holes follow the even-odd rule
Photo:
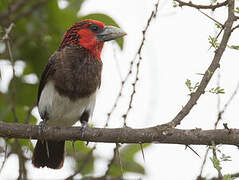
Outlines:
[[[48,60],[38,87],[37,106],[41,125],[87,125],[101,85],[101,51],[104,42],[126,33],[115,26],[86,19],[73,24],[59,48]],[[41,127],[41,126],[40,126]],[[37,140],[32,164],[36,168],[60,169],[64,164],[64,140]]]

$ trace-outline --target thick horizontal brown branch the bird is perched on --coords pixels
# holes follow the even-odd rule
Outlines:
[[[84,133],[83,133],[84,131]],[[8,138],[81,140],[105,143],[168,143],[183,145],[239,144],[239,129],[175,129],[165,125],[143,129],[46,127],[39,134],[39,126],[0,123],[0,136]]]

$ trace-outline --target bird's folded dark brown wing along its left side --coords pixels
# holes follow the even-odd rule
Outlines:
[[[38,87],[38,95],[37,95],[37,104],[39,103],[39,100],[40,100],[40,97],[41,97],[41,92],[44,88],[44,86],[46,85],[47,81],[49,80],[49,77],[52,77],[52,75],[55,73],[56,69],[55,69],[55,62],[56,62],[56,54],[53,54],[42,75],[41,75],[41,80],[40,80],[40,84],[39,84],[39,87]]]

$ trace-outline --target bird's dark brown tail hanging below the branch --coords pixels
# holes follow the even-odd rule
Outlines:
[[[38,140],[32,164],[37,167],[60,169],[64,163],[65,141]]]

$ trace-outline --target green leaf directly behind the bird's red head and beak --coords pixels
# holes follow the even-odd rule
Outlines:
[[[106,14],[94,13],[94,14],[88,14],[86,16],[80,17],[80,20],[84,20],[84,19],[94,19],[94,20],[102,21],[105,25],[120,27],[114,19],[112,19],[110,16]],[[116,39],[115,41],[117,42],[120,49],[122,50],[124,46],[124,39],[119,38],[119,39]]]

